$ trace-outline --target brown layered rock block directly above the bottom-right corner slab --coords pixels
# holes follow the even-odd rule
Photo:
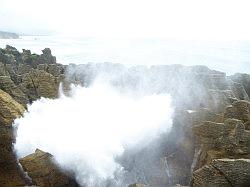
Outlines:
[[[224,123],[204,122],[193,128],[199,155],[194,168],[211,163],[215,158],[250,158],[250,132],[240,120]]]

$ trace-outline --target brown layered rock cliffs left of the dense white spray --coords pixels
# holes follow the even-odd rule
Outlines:
[[[15,129],[12,122],[20,117],[27,104],[41,98],[58,96],[65,67],[46,48],[41,55],[22,53],[6,46],[0,49],[0,186],[78,186],[71,174],[61,171],[49,153],[36,153],[20,160],[13,152]],[[24,173],[29,171],[29,176]],[[31,178],[30,178],[31,177]]]

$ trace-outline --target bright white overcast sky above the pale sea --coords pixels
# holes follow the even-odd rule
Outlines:
[[[0,30],[249,40],[246,0],[0,0]]]

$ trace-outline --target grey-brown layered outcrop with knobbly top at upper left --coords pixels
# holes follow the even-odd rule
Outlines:
[[[58,96],[59,83],[64,80],[65,66],[56,64],[49,48],[42,55],[6,46],[0,49],[0,89],[26,106],[40,97]]]

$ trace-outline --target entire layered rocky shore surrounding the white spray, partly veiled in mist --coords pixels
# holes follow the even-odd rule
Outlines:
[[[17,161],[11,124],[27,104],[58,97],[60,83],[67,93],[70,83],[88,86],[107,75],[121,91],[170,93],[176,107],[173,128],[157,145],[119,158],[131,186],[250,186],[250,75],[205,66],[65,66],[49,48],[37,55],[11,46],[0,49],[0,186],[77,186],[49,153],[37,150]]]

